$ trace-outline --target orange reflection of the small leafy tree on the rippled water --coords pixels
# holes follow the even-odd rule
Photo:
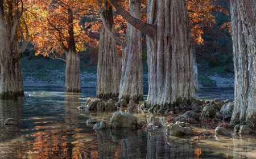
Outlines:
[[[85,132],[79,127],[80,94],[65,94],[63,111],[62,105],[55,106],[64,113],[64,119],[44,117],[32,128],[32,134],[23,136],[28,140],[23,145],[26,152],[19,151],[19,158],[97,158],[96,133]],[[49,121],[52,118],[52,121]],[[57,122],[56,122],[57,120]],[[93,132],[93,133],[92,133]]]

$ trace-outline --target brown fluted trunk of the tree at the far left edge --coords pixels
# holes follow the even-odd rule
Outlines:
[[[23,97],[23,79],[20,60],[13,59],[13,38],[6,24],[3,4],[0,3],[0,98]]]

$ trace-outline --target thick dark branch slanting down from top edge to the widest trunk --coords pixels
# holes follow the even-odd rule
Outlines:
[[[144,23],[141,20],[134,18],[127,12],[125,9],[123,9],[116,0],[108,0],[118,11],[119,14],[123,16],[125,20],[127,20],[128,23],[133,25],[134,28],[139,29],[139,31],[145,33],[148,37],[151,39],[154,39],[156,35],[156,27],[152,24]]]

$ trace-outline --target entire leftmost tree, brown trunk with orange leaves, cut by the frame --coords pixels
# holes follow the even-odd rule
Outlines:
[[[0,98],[23,97],[20,58],[28,44],[23,1],[0,1]]]

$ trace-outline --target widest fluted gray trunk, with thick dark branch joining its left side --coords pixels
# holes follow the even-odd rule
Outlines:
[[[147,23],[156,25],[147,38],[148,97],[151,109],[190,104],[195,100],[193,55],[187,6],[184,0],[148,1]],[[164,106],[164,107],[163,107]]]

